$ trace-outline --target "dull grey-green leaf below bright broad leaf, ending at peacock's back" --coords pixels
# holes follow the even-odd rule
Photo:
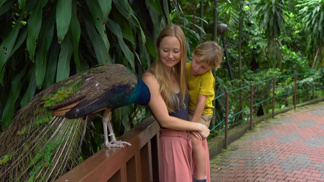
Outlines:
[[[70,74],[70,60],[73,53],[73,45],[69,38],[69,34],[66,34],[61,42],[61,52],[57,63],[56,82],[59,82]]]

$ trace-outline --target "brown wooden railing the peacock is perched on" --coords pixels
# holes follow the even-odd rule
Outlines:
[[[56,181],[159,181],[159,125],[153,117],[120,136],[125,148],[104,148]]]

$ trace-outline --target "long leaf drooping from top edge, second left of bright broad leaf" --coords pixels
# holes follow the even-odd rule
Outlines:
[[[43,8],[47,2],[48,0],[38,1],[34,10],[30,13],[30,17],[28,19],[28,36],[26,45],[27,51],[29,53],[29,58],[32,62],[34,62],[36,38],[38,37],[39,30],[41,30]]]

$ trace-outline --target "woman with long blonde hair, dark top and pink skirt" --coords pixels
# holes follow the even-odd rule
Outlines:
[[[189,122],[186,76],[186,39],[177,26],[164,28],[155,43],[158,59],[143,75],[150,89],[148,104],[160,125],[161,182],[192,181],[192,147],[187,130],[195,130],[199,140],[209,135],[207,126]]]

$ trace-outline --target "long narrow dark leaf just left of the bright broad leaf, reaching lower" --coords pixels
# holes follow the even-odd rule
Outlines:
[[[55,24],[55,18],[54,14],[55,11],[51,11],[51,13],[46,16],[43,20],[42,25],[42,32],[39,34],[38,42],[39,42],[39,49],[36,55],[36,61],[35,61],[35,76],[36,76],[36,83],[38,89],[41,88],[45,76],[45,70],[46,70],[46,56],[47,51],[50,48],[50,44],[53,39],[53,32],[54,32],[54,24]]]

